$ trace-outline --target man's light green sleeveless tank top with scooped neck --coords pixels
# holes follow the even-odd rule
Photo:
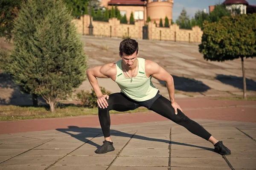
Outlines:
[[[149,78],[145,75],[145,59],[137,58],[138,74],[131,81],[131,78],[126,78],[122,72],[122,60],[116,62],[116,83],[121,89],[121,92],[127,95],[134,101],[146,101],[157,94],[158,89],[153,85],[151,76]]]

